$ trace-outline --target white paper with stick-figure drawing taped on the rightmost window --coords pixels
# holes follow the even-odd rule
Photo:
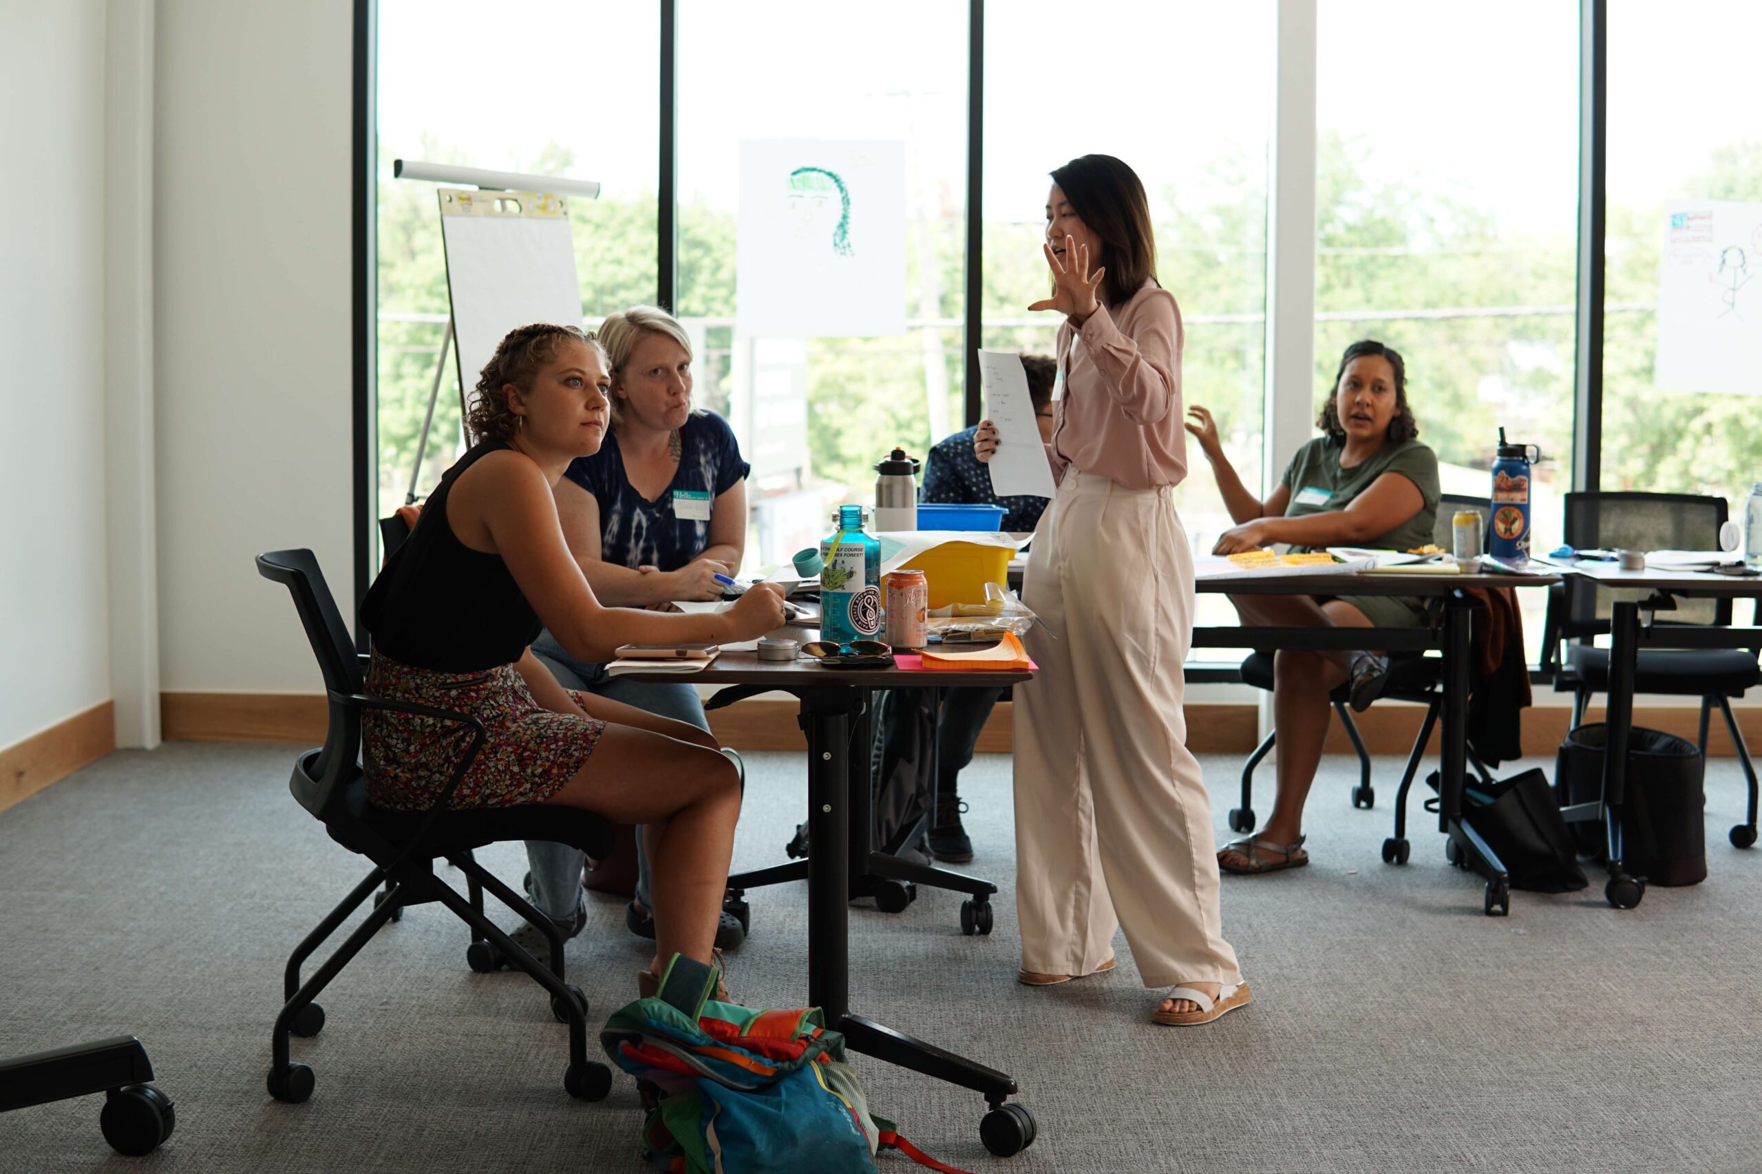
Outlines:
[[[1660,391],[1762,394],[1762,204],[1669,201],[1658,275]]]

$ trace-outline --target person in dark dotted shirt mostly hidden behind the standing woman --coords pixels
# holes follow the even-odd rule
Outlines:
[[[1040,438],[1052,444],[1052,384],[1057,373],[1055,364],[1047,356],[1022,356],[1022,368],[1027,371],[1027,394],[1034,401],[1034,422],[1040,424]],[[1001,505],[1008,514],[1003,528],[1011,533],[1027,533],[1040,525],[1040,516],[1050,505],[1050,498],[1008,496],[992,493],[990,472],[973,456],[973,433],[978,426],[957,431],[930,449],[929,466],[923,470],[922,498],[955,505]],[[936,811],[930,824],[930,852],[939,861],[966,864],[973,859],[973,840],[960,824],[960,796],[955,789],[960,771],[973,762],[973,746],[978,745],[980,730],[992,706],[1008,690],[1003,688],[948,688],[943,690],[943,706],[936,723]]]

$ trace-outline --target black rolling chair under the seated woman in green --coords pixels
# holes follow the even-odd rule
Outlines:
[[[1445,493],[1438,502],[1438,517],[1433,523],[1433,542],[1443,549],[1450,549],[1452,539],[1452,517],[1457,510],[1475,510],[1482,517],[1487,514],[1485,498],[1471,498],[1457,493]],[[1482,528],[1482,544],[1485,544],[1485,526]],[[1272,655],[1270,653],[1249,653],[1242,660],[1242,681],[1253,685],[1255,688],[1263,688],[1272,692]],[[1388,683],[1383,686],[1383,697],[1390,701],[1408,701],[1413,704],[1425,706],[1425,718],[1420,723],[1418,737],[1413,739],[1413,750],[1408,753],[1408,766],[1401,776],[1401,790],[1396,794],[1396,834],[1383,840],[1383,862],[1385,864],[1406,864],[1411,854],[1411,845],[1406,838],[1406,806],[1408,790],[1413,787],[1413,776],[1418,773],[1420,757],[1425,753],[1425,743],[1431,739],[1433,727],[1438,723],[1438,711],[1443,704],[1443,695],[1438,686],[1443,683],[1443,660],[1438,657],[1390,657],[1388,662]],[[1351,789],[1351,806],[1369,810],[1376,806],[1376,789],[1371,787],[1371,752],[1364,748],[1364,737],[1359,734],[1357,723],[1351,720],[1351,709],[1348,701],[1351,697],[1350,683],[1339,685],[1329,701],[1334,704],[1334,713],[1339,716],[1341,727],[1346,730],[1346,737],[1351,739],[1351,748],[1359,752],[1359,785]],[[1230,808],[1230,831],[1239,834],[1247,834],[1255,831],[1255,767],[1260,766],[1277,739],[1277,730],[1269,730],[1267,736],[1255,746],[1255,753],[1249,755],[1247,762],[1242,766],[1242,806]],[[1487,767],[1470,748],[1470,764],[1482,780],[1491,781]]]

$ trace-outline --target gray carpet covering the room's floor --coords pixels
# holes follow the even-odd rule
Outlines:
[[[800,755],[747,760],[744,868],[781,859],[803,803]],[[0,1169],[643,1169],[629,1079],[603,1104],[571,1102],[543,994],[467,970],[463,929],[439,906],[382,931],[322,996],[324,1033],[294,1040],[312,1100],[270,1100],[282,959],[365,873],[287,797],[287,766],[285,748],[167,745],[0,813],[0,1056],[134,1031],[178,1107],[176,1135],[144,1160],[106,1148],[97,1098],[0,1116]],[[1205,760],[1219,829],[1237,769]],[[897,917],[855,908],[853,1003],[1013,1072],[1040,1141],[992,1158],[976,1095],[858,1058],[872,1104],[973,1170],[1762,1169],[1762,855],[1725,841],[1741,817],[1732,759],[1709,771],[1707,884],[1651,889],[1625,914],[1600,884],[1514,894],[1510,919],[1482,915],[1478,882],[1445,864],[1436,834],[1420,833],[1410,866],[1381,864],[1399,764],[1376,769],[1380,806],[1355,811],[1350,762],[1327,762],[1307,869],[1225,880],[1256,1002],[1177,1030],[1145,1021],[1124,940],[1112,975],[1013,982],[1010,764],[983,757],[964,789],[973,869],[1004,891],[996,933],[962,938],[951,894]],[[518,882],[523,855],[486,857]],[[735,991],[800,1003],[802,885],[752,903]],[[599,1016],[643,961],[613,901],[569,947]],[[883,1169],[916,1167],[888,1155]]]

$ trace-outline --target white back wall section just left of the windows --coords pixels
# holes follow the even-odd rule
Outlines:
[[[159,0],[153,268],[160,679],[322,688],[252,558],[351,577],[351,4]]]

